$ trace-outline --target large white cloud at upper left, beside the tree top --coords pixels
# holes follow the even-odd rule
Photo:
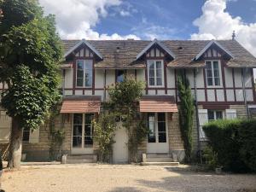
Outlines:
[[[121,36],[100,34],[92,29],[102,17],[108,15],[109,7],[119,6],[121,0],[39,0],[45,14],[56,16],[57,30],[66,39],[125,39],[135,35]],[[126,14],[127,13],[123,13]]]

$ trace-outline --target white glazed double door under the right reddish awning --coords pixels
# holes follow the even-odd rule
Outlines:
[[[169,153],[166,113],[148,113],[148,153]]]

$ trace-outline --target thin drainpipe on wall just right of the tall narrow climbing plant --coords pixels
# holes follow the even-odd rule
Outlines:
[[[198,105],[197,105],[197,84],[196,84],[196,76],[198,73],[198,69],[194,68],[194,90],[195,90],[195,119],[196,119],[196,131],[197,131],[197,148],[199,151],[199,158],[202,164],[201,159],[201,142],[200,142],[200,125],[199,125],[199,115],[198,115]]]

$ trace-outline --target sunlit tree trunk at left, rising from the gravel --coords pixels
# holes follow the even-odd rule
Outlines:
[[[18,117],[12,118],[11,139],[9,145],[9,168],[20,168],[21,160],[21,143],[22,143],[22,129],[19,127],[20,120]]]

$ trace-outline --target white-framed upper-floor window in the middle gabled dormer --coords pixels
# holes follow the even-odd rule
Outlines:
[[[148,60],[148,85],[164,85],[164,64],[161,60]]]

